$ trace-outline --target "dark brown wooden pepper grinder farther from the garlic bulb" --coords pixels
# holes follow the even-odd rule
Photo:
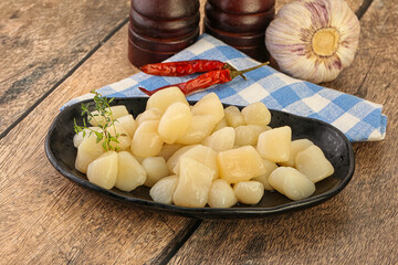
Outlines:
[[[130,0],[128,60],[161,62],[199,36],[199,0]]]

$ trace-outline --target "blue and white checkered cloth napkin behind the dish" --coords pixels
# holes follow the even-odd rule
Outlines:
[[[193,59],[219,60],[238,70],[258,64],[245,54],[207,34],[168,61]],[[269,108],[321,119],[337,127],[350,141],[381,140],[386,136],[387,117],[381,113],[381,105],[292,78],[269,66],[249,72],[245,76],[247,81],[238,76],[229,83],[192,94],[188,99],[200,99],[205,94],[214,92],[223,103],[248,105],[261,100]],[[108,97],[145,96],[138,91],[138,86],[155,89],[192,77],[161,77],[138,73],[97,92]],[[65,106],[91,97],[92,94],[87,94],[74,98]]]

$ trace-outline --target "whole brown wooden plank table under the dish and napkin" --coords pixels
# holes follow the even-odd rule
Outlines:
[[[398,4],[347,2],[359,51],[325,86],[384,104],[386,139],[354,144],[353,180],[318,206],[201,221],[81,188],[44,153],[64,103],[138,72],[127,61],[129,1],[1,1],[0,264],[398,264]]]

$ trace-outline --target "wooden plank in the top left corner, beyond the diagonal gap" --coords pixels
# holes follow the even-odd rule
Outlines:
[[[129,1],[0,1],[0,135],[128,17]]]

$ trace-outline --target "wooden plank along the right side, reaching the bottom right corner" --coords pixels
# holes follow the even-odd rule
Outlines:
[[[384,104],[387,137],[355,144],[356,170],[334,199],[264,220],[206,221],[170,264],[398,263],[398,12],[374,0],[362,19],[353,65],[329,87]]]

